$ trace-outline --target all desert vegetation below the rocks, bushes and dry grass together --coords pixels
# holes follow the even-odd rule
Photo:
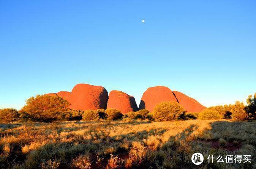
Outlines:
[[[251,155],[255,161],[255,95],[247,105],[186,113],[177,102],[122,114],[114,108],[72,110],[65,99],[36,95],[17,111],[0,110],[0,167],[255,168],[253,163],[191,163],[191,155]]]

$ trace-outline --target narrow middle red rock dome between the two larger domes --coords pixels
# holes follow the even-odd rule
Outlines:
[[[107,108],[115,108],[126,114],[130,111],[137,111],[137,105],[133,96],[122,91],[113,90],[109,93]]]

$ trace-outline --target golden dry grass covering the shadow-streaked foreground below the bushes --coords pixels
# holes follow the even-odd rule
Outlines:
[[[255,168],[256,122],[186,120],[171,122],[97,121],[0,125],[0,168]],[[224,140],[224,141],[223,141]],[[229,151],[211,142],[232,142]],[[251,155],[252,163],[200,166],[226,154]]]

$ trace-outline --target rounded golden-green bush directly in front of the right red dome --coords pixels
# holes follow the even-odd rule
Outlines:
[[[182,105],[176,102],[158,103],[153,110],[153,117],[156,121],[175,120],[185,113]]]

